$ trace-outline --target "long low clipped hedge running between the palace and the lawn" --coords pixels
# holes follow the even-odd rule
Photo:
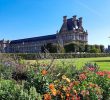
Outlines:
[[[66,58],[91,58],[91,57],[110,57],[110,53],[5,53],[12,57],[19,57],[26,60],[35,59],[66,59]]]

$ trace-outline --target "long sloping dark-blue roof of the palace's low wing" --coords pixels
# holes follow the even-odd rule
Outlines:
[[[26,38],[26,39],[12,40],[10,42],[10,44],[23,43],[23,42],[35,42],[35,41],[43,41],[43,40],[51,40],[51,39],[56,39],[56,34],[32,37],[32,38]]]

